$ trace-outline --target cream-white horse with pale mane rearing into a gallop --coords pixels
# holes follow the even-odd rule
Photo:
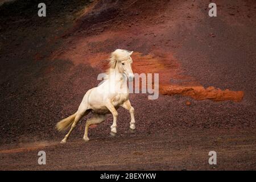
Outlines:
[[[76,127],[79,120],[92,111],[93,117],[89,118],[85,124],[84,140],[88,141],[88,129],[90,125],[97,125],[105,121],[106,114],[113,115],[113,125],[110,127],[111,133],[117,133],[117,109],[119,106],[130,111],[130,129],[135,129],[134,108],[129,101],[129,89],[127,78],[133,81],[134,74],[131,69],[130,51],[116,49],[110,57],[110,68],[105,80],[101,85],[88,90],[75,114],[57,123],[57,130],[65,130],[71,126],[68,134],[65,135],[61,143],[66,143],[72,130]]]

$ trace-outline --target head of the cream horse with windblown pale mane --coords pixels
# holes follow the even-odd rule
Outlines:
[[[133,59],[131,59],[131,54],[133,51],[126,51],[123,49],[116,49],[112,52],[112,57],[114,57],[113,61],[114,68],[117,67],[120,73],[126,75],[129,78],[129,81],[133,81],[134,74],[133,69],[131,69],[131,64],[133,63]]]

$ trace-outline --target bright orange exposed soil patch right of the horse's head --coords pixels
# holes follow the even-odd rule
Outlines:
[[[192,97],[195,100],[214,100],[214,101],[241,101],[242,91],[221,90],[213,86],[204,88],[196,82],[185,82],[185,76],[180,75],[179,63],[169,55],[142,56],[135,54],[134,72],[137,73],[159,73],[159,92],[164,95],[181,94]],[[170,83],[170,78],[183,79],[179,85]]]

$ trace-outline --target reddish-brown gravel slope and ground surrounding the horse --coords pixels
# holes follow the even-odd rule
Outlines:
[[[0,6],[0,169],[256,169],[254,1],[216,1],[214,18],[210,1],[45,3],[46,18],[32,1]],[[159,98],[130,95],[135,133],[120,109],[114,138],[110,115],[90,142],[83,119],[59,144],[56,122],[116,48],[135,52],[135,73],[159,73]]]

